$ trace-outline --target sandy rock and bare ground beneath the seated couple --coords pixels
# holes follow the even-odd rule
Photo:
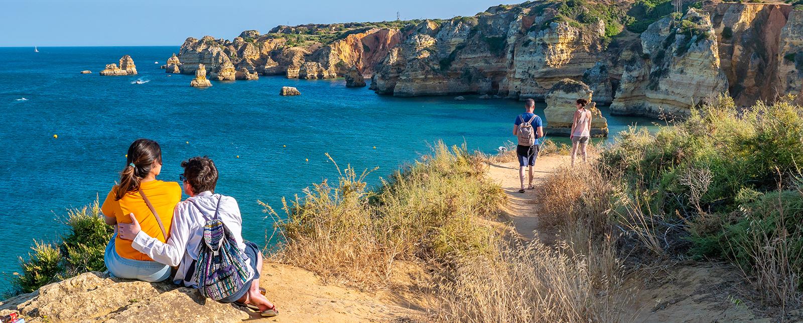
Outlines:
[[[0,303],[0,315],[18,311],[26,322],[350,322],[421,317],[381,293],[321,284],[312,272],[266,263],[260,286],[279,309],[270,319],[204,298],[192,288],[87,272]]]

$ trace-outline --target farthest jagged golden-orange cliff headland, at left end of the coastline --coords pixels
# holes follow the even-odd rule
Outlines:
[[[348,33],[323,47],[320,43],[288,46],[287,39],[275,35],[296,31],[299,30],[291,27],[275,28],[269,35],[243,31],[232,41],[210,36],[190,37],[181,45],[177,58],[181,61],[179,70],[190,74],[198,63],[203,63],[212,67],[210,77],[213,80],[255,80],[259,74],[330,79],[344,76],[351,67],[370,74],[401,39],[397,30],[372,28]],[[226,56],[229,62],[220,55]]]

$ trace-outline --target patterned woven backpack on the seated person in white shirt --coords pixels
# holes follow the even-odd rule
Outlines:
[[[201,211],[206,220],[195,268],[195,282],[201,294],[214,301],[220,301],[242,290],[253,276],[253,269],[240,255],[237,241],[218,218],[221,199],[222,197],[218,198],[212,217],[207,216],[191,198],[187,199]]]

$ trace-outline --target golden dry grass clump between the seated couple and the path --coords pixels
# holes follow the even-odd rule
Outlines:
[[[377,190],[347,167],[336,186],[323,182],[284,202],[287,219],[263,204],[287,241],[274,258],[373,289],[386,286],[395,260],[448,264],[489,252],[499,236],[479,220],[495,219],[506,197],[485,167],[465,147],[442,143]]]

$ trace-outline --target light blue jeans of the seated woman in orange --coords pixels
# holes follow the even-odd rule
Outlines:
[[[112,241],[106,246],[104,262],[106,268],[112,276],[127,278],[132,280],[142,280],[155,283],[166,280],[170,276],[170,266],[159,264],[151,260],[132,260],[120,257],[114,249],[114,239],[117,235],[112,235]]]

